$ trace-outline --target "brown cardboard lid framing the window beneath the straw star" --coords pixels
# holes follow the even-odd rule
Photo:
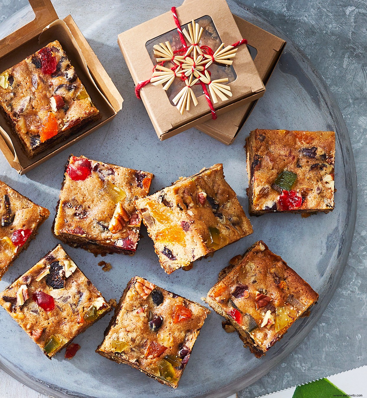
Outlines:
[[[225,0],[217,0],[215,8],[212,7],[211,0],[193,1],[195,1],[195,6],[190,2],[190,4],[184,3],[176,9],[181,25],[209,15],[224,43],[232,44],[241,39],[241,33]],[[172,12],[168,11],[118,35],[118,43],[135,84],[149,79],[152,75],[154,64],[145,47],[147,41],[175,29],[177,28]],[[265,86],[245,45],[238,47],[233,66],[237,74],[236,80],[230,83],[233,96],[229,100],[214,104],[215,109],[221,109],[253,94],[265,91]],[[190,111],[186,111],[183,116],[172,105],[162,88],[148,84],[141,90],[141,98],[158,137],[161,139],[163,135],[169,134],[177,128],[186,125],[191,127],[189,123],[198,118],[206,117],[207,120],[211,117],[204,95],[197,97],[198,105],[191,107]],[[184,127],[184,129],[188,127]]]

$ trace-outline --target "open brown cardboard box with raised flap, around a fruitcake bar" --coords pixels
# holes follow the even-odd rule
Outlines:
[[[29,0],[35,19],[0,40],[1,71],[14,66],[48,43],[58,40],[74,66],[93,103],[99,119],[81,127],[77,133],[29,158],[12,126],[0,112],[0,149],[10,166],[24,174],[111,121],[124,101],[111,78],[71,16],[60,20],[50,0]]]

